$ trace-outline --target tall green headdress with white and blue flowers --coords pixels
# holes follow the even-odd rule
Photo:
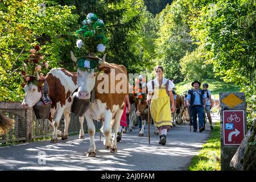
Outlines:
[[[76,36],[79,38],[76,42],[79,53],[82,55],[77,61],[77,67],[88,72],[96,71],[98,63],[97,55],[99,52],[104,52],[105,44],[108,39],[105,36],[105,24],[103,20],[98,19],[96,14],[89,13],[86,19],[82,21],[83,26],[76,31]],[[88,55],[88,56],[85,56]]]

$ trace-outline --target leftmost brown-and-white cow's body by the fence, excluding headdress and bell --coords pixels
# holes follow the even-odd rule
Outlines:
[[[49,88],[49,98],[52,101],[51,112],[49,114],[49,125],[53,127],[52,143],[57,143],[57,135],[60,133],[57,130],[60,119],[64,114],[64,133],[61,133],[61,139],[68,138],[68,125],[70,121],[72,96],[71,94],[77,89],[77,75],[71,73],[64,68],[54,68],[45,76],[34,78],[36,82],[28,82],[24,86],[26,92],[22,102],[22,107],[28,109],[35,106],[42,99],[42,85],[47,81]],[[79,117],[81,129],[79,138],[84,138],[84,117]]]

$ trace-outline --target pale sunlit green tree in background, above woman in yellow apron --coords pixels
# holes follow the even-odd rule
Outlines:
[[[186,52],[191,52],[196,46],[192,43],[188,27],[188,5],[179,0],[167,5],[156,16],[158,29],[157,60],[163,65],[165,76],[175,82],[183,81],[184,75],[180,72],[180,59]]]

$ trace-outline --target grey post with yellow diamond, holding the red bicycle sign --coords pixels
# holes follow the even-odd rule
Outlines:
[[[226,126],[224,126],[224,111],[244,111],[244,128],[245,128],[245,133],[247,131],[247,122],[246,122],[246,100],[245,100],[245,93],[241,92],[235,92],[235,93],[230,93],[230,92],[225,92],[225,93],[220,93],[220,135],[221,135],[221,171],[230,171],[232,170],[230,168],[230,161],[233,158],[234,154],[237,151],[237,148],[240,146],[239,144],[236,145],[230,145],[230,144],[225,144],[224,143],[224,132],[228,131]],[[232,126],[236,124],[236,122],[230,122]],[[229,123],[228,123],[229,125]],[[225,130],[225,131],[224,131]],[[233,133],[236,132],[234,131],[235,129],[232,129]],[[229,131],[229,132],[230,132]],[[230,133],[229,133],[230,134]],[[240,132],[240,135],[242,134],[242,131]],[[230,136],[227,136],[225,134],[225,138],[236,138],[236,135],[230,134]]]

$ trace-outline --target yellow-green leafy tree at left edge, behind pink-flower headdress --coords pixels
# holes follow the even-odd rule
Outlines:
[[[75,7],[45,1],[46,9],[40,11],[40,3],[39,0],[0,3],[1,101],[23,99],[20,70],[32,46],[40,44],[50,67],[60,67],[60,49],[71,44],[65,36],[71,35],[70,27],[78,18],[71,13]]]

